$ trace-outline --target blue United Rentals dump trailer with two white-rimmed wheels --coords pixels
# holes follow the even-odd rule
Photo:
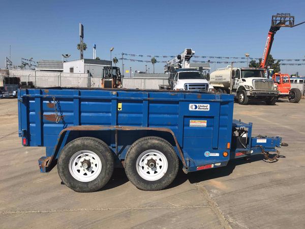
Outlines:
[[[233,95],[201,92],[20,89],[23,146],[45,147],[42,173],[57,164],[78,192],[102,188],[124,167],[142,190],[160,190],[185,173],[276,152],[281,137],[252,137],[252,123],[233,120]]]

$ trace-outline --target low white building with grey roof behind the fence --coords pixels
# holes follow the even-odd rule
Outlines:
[[[103,68],[110,66],[110,61],[83,59],[64,62],[64,73],[89,73],[90,77],[102,77]]]

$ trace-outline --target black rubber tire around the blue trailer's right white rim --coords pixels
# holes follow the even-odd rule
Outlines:
[[[144,152],[148,152],[148,150],[161,152],[166,157],[167,170],[165,174],[158,180],[152,181],[144,179],[140,176],[141,172],[138,172],[137,170],[138,166],[136,164],[138,158],[140,158],[140,156],[143,155]],[[166,188],[173,182],[173,180],[177,176],[178,167],[179,160],[174,148],[165,139],[155,136],[143,137],[135,141],[128,150],[125,159],[125,172],[128,179],[138,189],[145,191],[156,191]]]

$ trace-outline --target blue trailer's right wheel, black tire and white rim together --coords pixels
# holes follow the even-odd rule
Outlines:
[[[143,137],[134,142],[125,159],[125,172],[132,184],[145,191],[166,188],[179,167],[177,154],[161,137]]]

